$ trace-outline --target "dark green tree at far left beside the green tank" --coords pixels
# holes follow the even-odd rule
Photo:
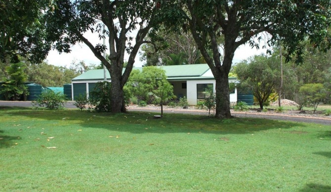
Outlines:
[[[24,67],[24,63],[11,64],[6,67],[9,78],[3,79],[5,83],[1,85],[0,89],[0,94],[3,94],[5,100],[20,100],[22,95],[28,95],[28,88],[24,84],[27,79]]]

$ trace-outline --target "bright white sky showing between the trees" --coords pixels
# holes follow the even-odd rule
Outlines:
[[[102,40],[98,38],[98,35],[87,32],[84,34],[84,36],[88,38],[90,42],[94,45],[98,43],[102,44]],[[248,59],[249,57],[254,55],[259,55],[261,53],[266,53],[266,49],[256,50],[256,48],[250,48],[248,44],[245,46],[240,46],[235,52],[233,64],[239,63],[242,60]],[[139,57],[140,55],[137,54],[134,63],[135,67],[140,67],[144,64],[144,62],[141,62],[139,60]],[[125,55],[124,60],[125,58],[128,59],[127,54]],[[56,66],[67,66],[67,67],[69,67],[74,60],[84,61],[85,64],[100,64],[100,61],[94,56],[92,51],[84,43],[80,43],[72,46],[72,51],[69,54],[66,53],[59,54],[56,50],[52,50],[49,52],[46,58],[48,64],[52,64]]]

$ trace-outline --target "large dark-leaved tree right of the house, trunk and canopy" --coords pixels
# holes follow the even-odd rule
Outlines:
[[[329,0],[180,0],[176,11],[182,17],[172,16],[176,27],[189,29],[198,48],[216,80],[216,118],[230,118],[228,74],[236,49],[249,43],[259,48],[265,41],[272,46],[278,40],[287,51],[302,61],[301,42],[307,37],[320,49],[330,48],[331,11]],[[176,20],[177,19],[177,20]],[[224,57],[219,51],[224,36]],[[263,46],[264,47],[264,46]],[[208,54],[212,51],[212,55]]]

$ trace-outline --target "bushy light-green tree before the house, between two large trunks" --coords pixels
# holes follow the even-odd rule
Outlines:
[[[161,103],[161,98],[164,102],[174,98],[173,87],[166,80],[165,70],[155,66],[143,67],[141,72],[133,70],[125,87],[147,104]]]

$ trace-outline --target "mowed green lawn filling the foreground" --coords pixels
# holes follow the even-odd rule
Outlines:
[[[331,191],[331,126],[152,117],[0,108],[0,191]]]

